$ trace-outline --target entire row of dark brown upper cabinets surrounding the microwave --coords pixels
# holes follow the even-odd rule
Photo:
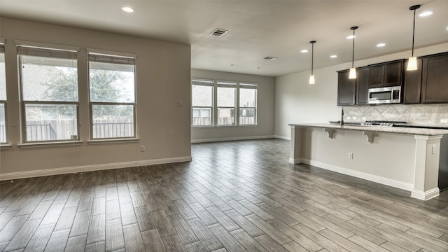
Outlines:
[[[407,59],[337,71],[337,105],[368,104],[371,87],[402,86],[403,104],[448,103],[448,52],[419,57],[416,71],[406,71]]]

